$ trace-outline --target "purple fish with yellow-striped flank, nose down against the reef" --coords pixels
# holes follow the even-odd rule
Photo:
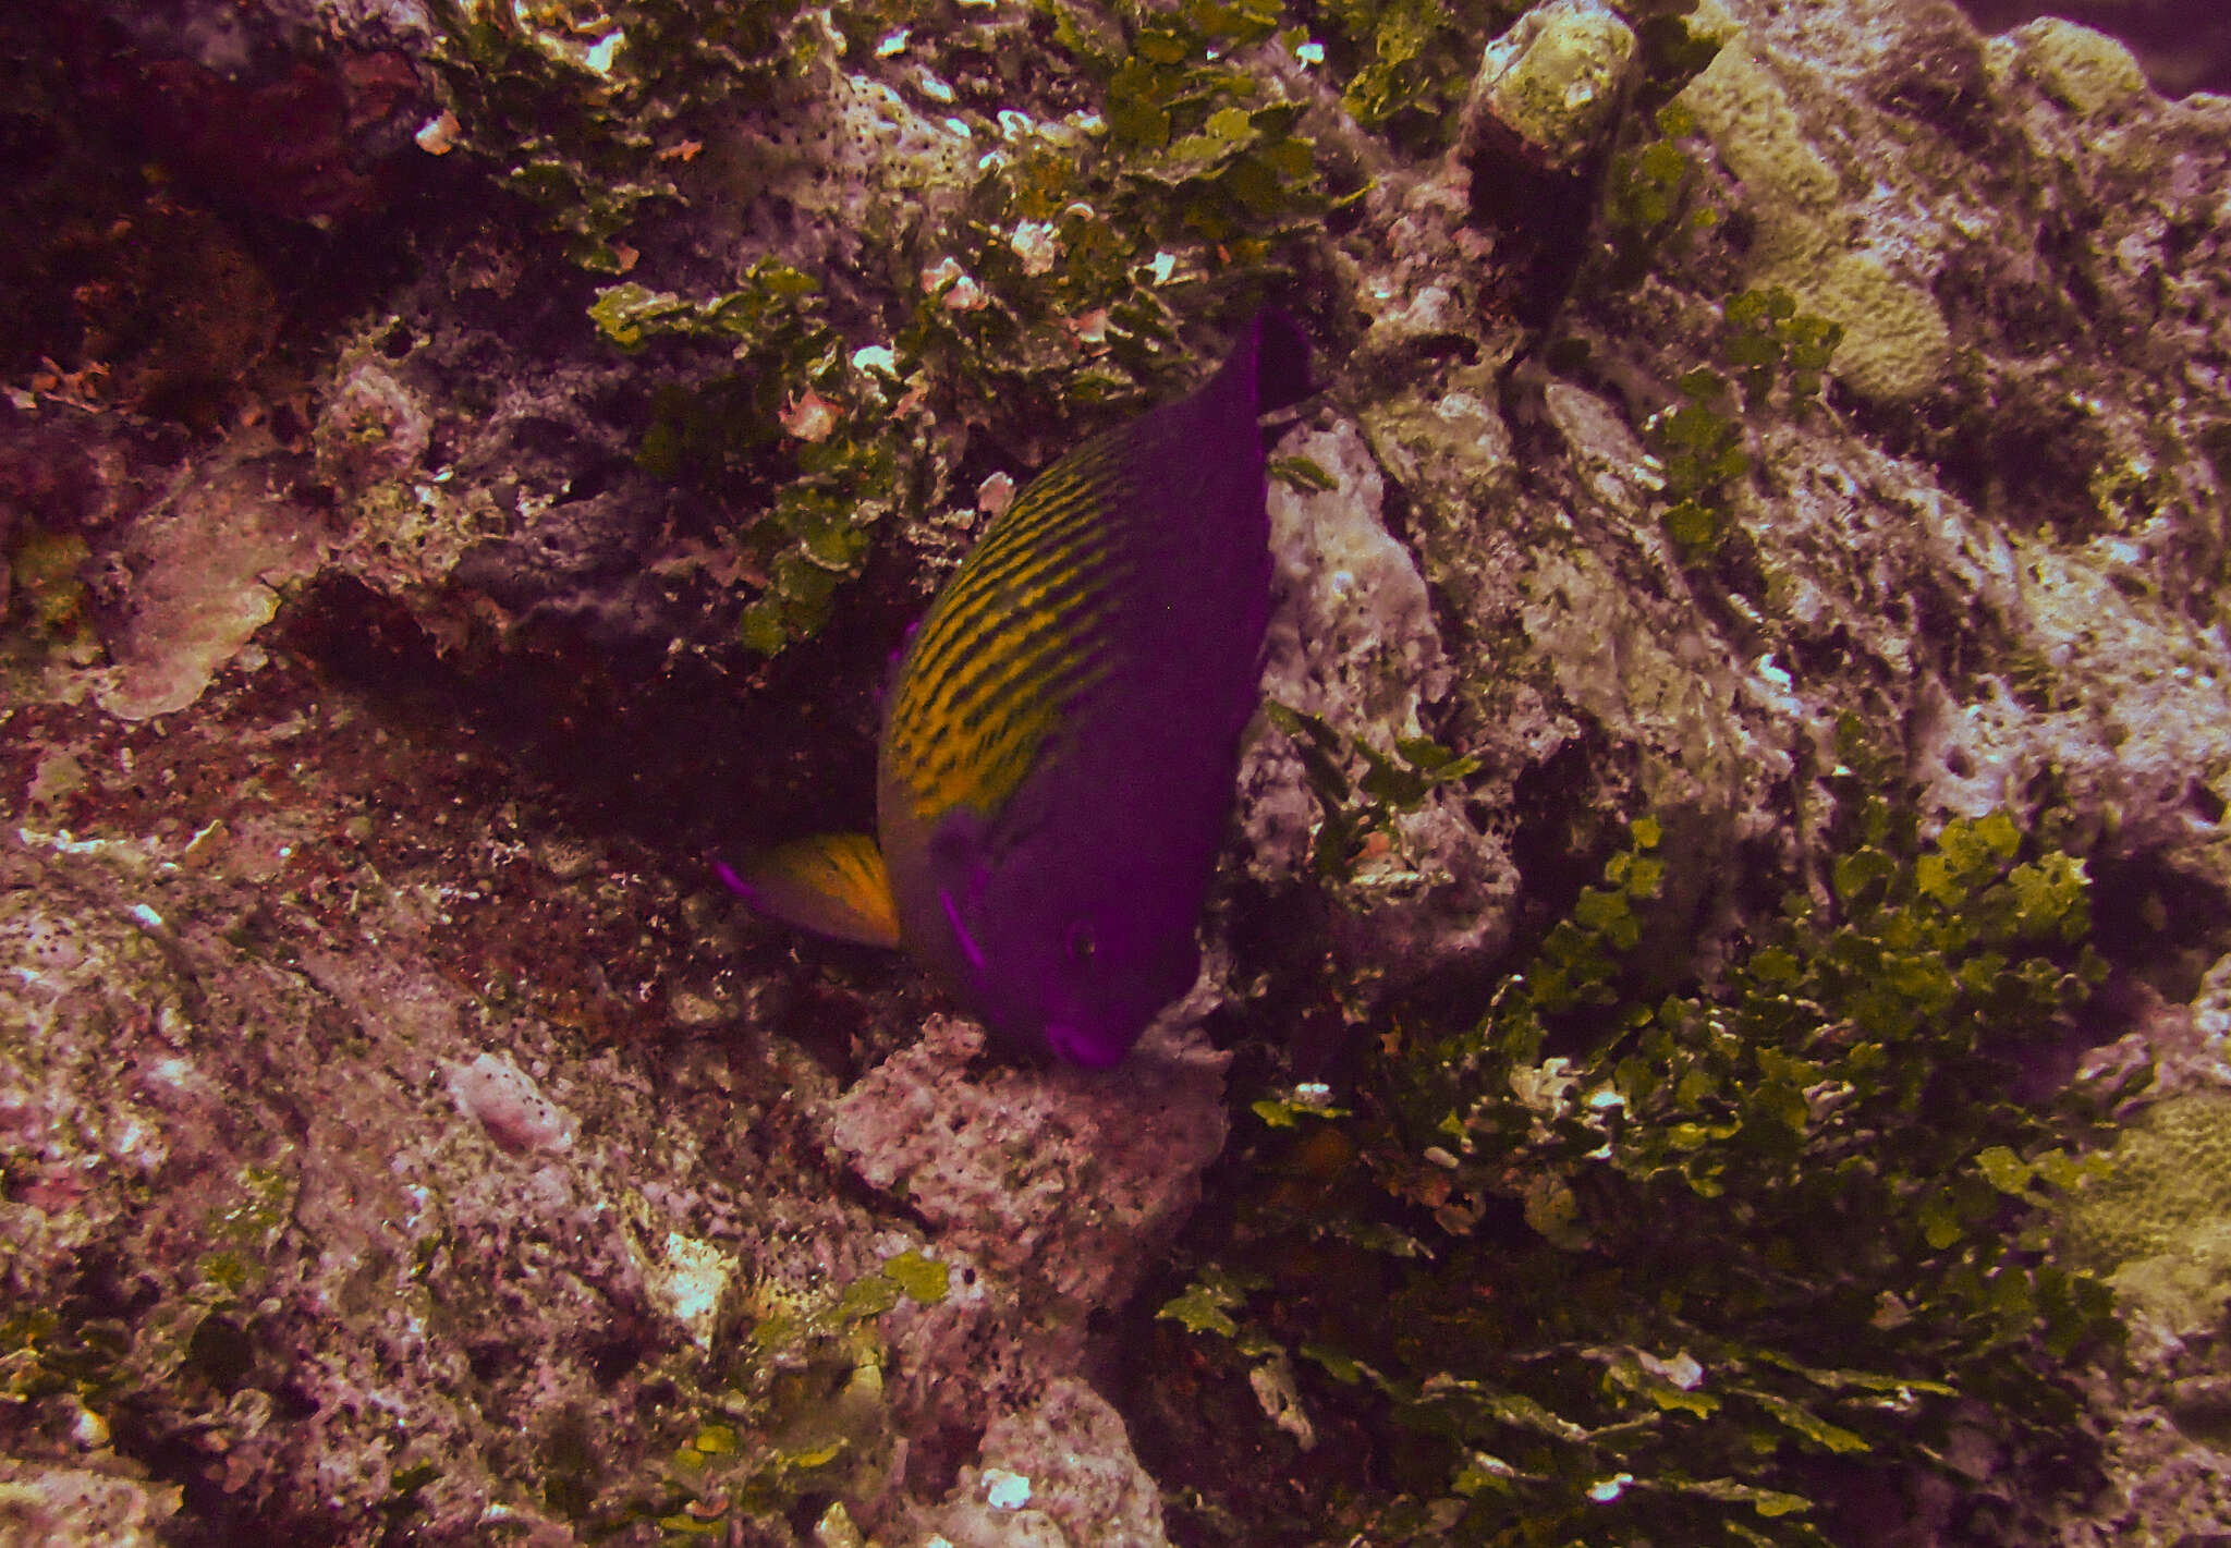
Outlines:
[[[1258,419],[1314,390],[1307,339],[1267,308],[1198,390],[1031,480],[899,658],[877,834],[723,879],[906,948],[1026,1060],[1118,1064],[1200,973],[1272,604]]]

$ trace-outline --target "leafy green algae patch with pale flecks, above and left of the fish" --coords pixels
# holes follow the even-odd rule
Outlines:
[[[1046,80],[1013,107],[946,80],[1011,47],[991,18],[912,18],[437,11],[460,145],[616,279],[589,323],[656,373],[636,466],[723,509],[734,636],[761,656],[839,616],[888,517],[937,511],[962,426],[1051,439],[1151,399],[1187,364],[1165,292],[1265,292],[1332,207],[1265,69],[1301,38],[1278,4],[1053,7]],[[750,261],[725,207],[828,241]],[[743,241],[741,279],[674,279],[654,212]],[[1051,424],[1013,426],[1017,404]]]

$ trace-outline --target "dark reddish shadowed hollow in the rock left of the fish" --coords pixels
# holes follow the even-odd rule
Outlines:
[[[785,1035],[854,1077],[875,1055],[859,1046],[857,986],[906,990],[915,977],[904,957],[750,915],[727,901],[712,861],[808,832],[872,828],[875,689],[888,674],[888,633],[830,631],[763,665],[654,651],[649,671],[629,671],[567,620],[500,638],[462,604],[451,618],[457,633],[437,642],[422,609],[352,575],[326,575],[290,600],[274,642],[352,696],[386,736],[442,767],[446,754],[469,765],[460,781],[477,812],[518,799],[527,832],[614,841],[622,865],[714,897],[738,930],[732,961],[785,981],[761,1010],[781,1013]],[[596,932],[593,919],[585,928]],[[504,957],[477,935],[471,950]],[[660,935],[651,950],[687,941]]]

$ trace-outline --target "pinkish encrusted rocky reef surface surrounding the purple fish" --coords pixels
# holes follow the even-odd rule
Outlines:
[[[2231,100],[1948,0],[62,4],[0,58],[0,1544],[2231,1519]],[[1325,393],[1207,968],[1109,1075],[1008,1066],[712,859],[861,825],[986,513],[1272,299]],[[1961,993],[2050,937],[2006,1093],[2122,1082],[1925,1227],[1959,1305],[2113,1287],[1986,1341],[2064,1407],[1852,1376],[1945,1399],[1892,1454],[1624,1323],[1604,1390],[1780,1425],[1638,1483],[1294,1312],[1497,1231],[1588,1305],[1595,1184],[1475,1144],[1593,1155],[1644,1055],[1591,1086],[1537,995],[1414,1164],[1341,1129],[1374,1071],[1513,973],[1814,984],[1778,917],[1957,915],[1948,854],[2019,908]],[[1258,1198],[1372,1225],[1218,1278]]]

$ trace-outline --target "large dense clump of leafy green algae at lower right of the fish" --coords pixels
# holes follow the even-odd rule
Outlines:
[[[1352,1089],[1238,1140],[1265,1182],[1156,1325],[1359,1448],[1301,1463],[1319,1535],[1823,1544],[1834,1479],[1932,1465],[1977,1403],[1977,1490],[2086,1488],[2073,1367],[2117,1323],[2030,1222],[2117,1093],[2001,1095],[2102,973],[2082,865],[1874,803],[1818,897],[1655,995],[1667,834],[1633,821],[1475,1026],[1388,1013]]]

